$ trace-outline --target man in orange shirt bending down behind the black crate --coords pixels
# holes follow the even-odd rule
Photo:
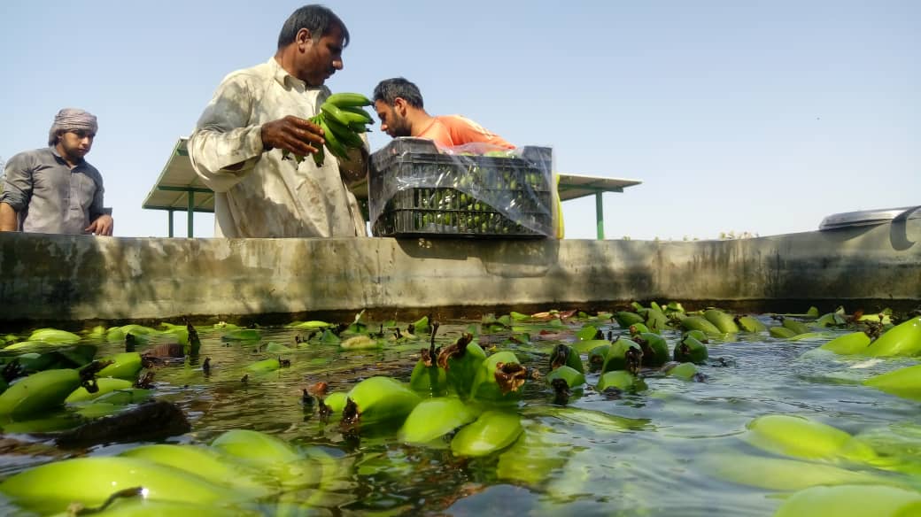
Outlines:
[[[515,148],[499,135],[460,115],[429,115],[423,107],[418,86],[402,77],[385,79],[374,88],[374,109],[380,118],[380,130],[391,137],[428,138],[439,147],[477,142],[502,149]]]

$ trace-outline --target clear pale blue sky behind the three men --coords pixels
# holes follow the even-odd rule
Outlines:
[[[299,2],[0,3],[0,156],[54,113],[99,116],[87,159],[117,236],[166,236],[141,209],[227,73],[266,61]],[[558,170],[635,178],[606,194],[608,238],[815,229],[831,213],[921,203],[921,2],[326,2],[352,34],[333,91],[414,81]],[[452,8],[451,6],[455,6]],[[372,150],[389,141],[372,135]],[[594,200],[565,203],[594,238]],[[196,236],[212,236],[198,215]],[[185,235],[184,213],[177,216]]]

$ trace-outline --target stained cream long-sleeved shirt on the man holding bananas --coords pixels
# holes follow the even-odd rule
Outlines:
[[[216,237],[367,235],[328,149],[322,167],[309,156],[298,165],[283,160],[280,149],[263,151],[263,123],[287,115],[309,119],[329,96],[329,88],[307,86],[274,57],[217,86],[188,144],[192,167],[215,191]]]

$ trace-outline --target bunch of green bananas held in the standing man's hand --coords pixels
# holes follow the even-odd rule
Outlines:
[[[360,93],[334,93],[320,105],[320,112],[308,120],[323,130],[325,148],[329,149],[332,155],[348,159],[349,149],[360,149],[365,146],[365,141],[359,134],[367,132],[367,124],[373,123],[374,120],[362,107],[372,104],[374,103],[371,99]],[[282,158],[288,157],[288,152],[283,151]],[[300,163],[304,158],[296,155],[294,159]],[[321,167],[324,160],[325,152],[321,147],[313,154],[313,162],[317,167]]]

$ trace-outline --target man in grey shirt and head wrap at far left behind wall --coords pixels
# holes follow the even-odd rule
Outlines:
[[[6,162],[0,231],[112,235],[102,176],[84,159],[98,129],[87,111],[62,109],[48,132],[48,147]]]

